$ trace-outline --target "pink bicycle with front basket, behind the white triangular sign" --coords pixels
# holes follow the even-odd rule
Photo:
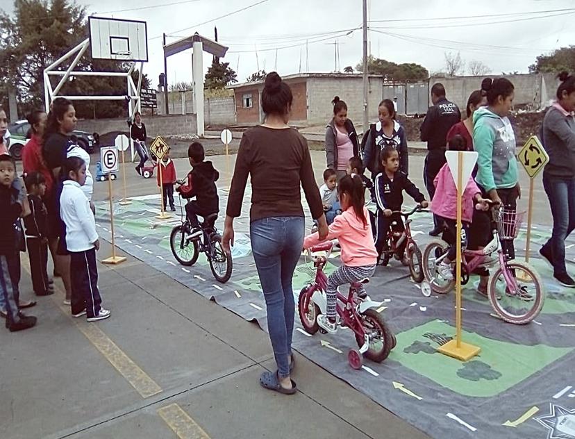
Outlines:
[[[461,283],[469,281],[469,274],[481,267],[499,267],[492,270],[487,283],[487,297],[495,313],[506,322],[526,324],[539,315],[543,307],[544,292],[539,274],[531,265],[511,260],[503,251],[501,241],[514,240],[519,233],[522,213],[503,210],[497,205],[490,206],[492,214],[493,239],[481,250],[463,250]],[[449,244],[433,240],[424,250],[423,270],[428,285],[422,285],[424,295],[431,290],[446,294],[453,289],[454,279],[445,279],[438,270],[441,261],[447,256]],[[497,254],[493,258],[492,254]],[[455,264],[452,264],[455,267]],[[456,270],[453,270],[455,277]]]

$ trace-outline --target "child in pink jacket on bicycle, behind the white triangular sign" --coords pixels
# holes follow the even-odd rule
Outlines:
[[[449,140],[449,151],[467,151],[467,144],[465,138],[462,135],[454,135],[451,140]],[[457,236],[457,186],[455,181],[453,181],[453,176],[451,175],[451,170],[449,165],[445,163],[440,169],[440,172],[435,176],[433,181],[435,184],[435,197],[431,202],[431,211],[435,213],[438,217],[441,217],[447,229],[453,237]],[[465,191],[462,195],[462,230],[461,230],[461,248],[465,249],[467,247],[467,234],[469,233],[469,224],[471,224],[473,219],[474,204],[479,203],[483,207],[483,210],[487,210],[487,201],[481,197],[481,190],[477,187],[472,176],[469,176],[467,181],[467,186],[465,186]],[[447,256],[443,258],[438,267],[439,274],[443,276],[444,279],[451,281],[453,279],[453,270],[451,269],[451,263],[456,258],[457,248],[455,245],[449,247]],[[484,279],[485,278],[485,279]],[[487,288],[487,277],[481,276],[481,281],[479,283],[479,289]]]

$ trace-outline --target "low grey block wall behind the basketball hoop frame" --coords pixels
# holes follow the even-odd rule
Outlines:
[[[196,115],[147,116],[143,118],[148,137],[197,133]],[[76,129],[103,135],[112,131],[127,131],[126,119],[78,120]]]

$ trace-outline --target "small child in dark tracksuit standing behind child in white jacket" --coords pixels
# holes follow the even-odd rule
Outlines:
[[[53,283],[48,278],[48,211],[42,197],[46,193],[46,181],[40,172],[30,172],[24,179],[28,191],[31,214],[24,217],[26,247],[30,259],[32,285],[37,296],[51,295]]]

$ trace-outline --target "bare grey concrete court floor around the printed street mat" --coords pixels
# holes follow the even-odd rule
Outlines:
[[[226,158],[210,159],[226,187]],[[97,160],[92,156],[93,165]],[[186,160],[175,161],[178,176],[185,175]],[[324,155],[314,151],[313,161],[319,177]],[[229,162],[231,173],[233,156]],[[420,186],[415,169],[421,168],[422,157],[412,157]],[[128,195],[153,193],[155,181],[132,169]],[[121,189],[120,176],[117,196]],[[94,190],[96,200],[107,198],[106,183],[95,183]],[[536,193],[544,197],[540,188]],[[535,206],[537,222],[550,217],[539,201]],[[98,257],[109,255],[103,242]],[[38,298],[31,310],[39,318],[35,329],[0,331],[1,438],[428,437],[303,356],[293,376],[297,395],[260,388],[259,374],[274,370],[265,332],[127,258],[99,265],[104,304],[113,311],[109,320],[73,320],[59,288]],[[22,261],[21,290],[28,298],[26,255]]]

